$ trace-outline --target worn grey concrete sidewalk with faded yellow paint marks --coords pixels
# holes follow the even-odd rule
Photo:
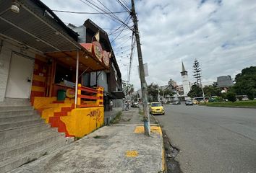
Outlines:
[[[151,124],[155,123],[153,120]],[[12,173],[162,172],[164,155],[161,128],[151,125],[151,136],[145,136],[139,109],[124,111],[118,121]]]

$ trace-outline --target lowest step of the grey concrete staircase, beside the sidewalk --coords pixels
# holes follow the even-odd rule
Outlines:
[[[46,154],[52,153],[60,148],[65,146],[65,139],[59,138],[47,146],[42,146],[40,148],[36,148],[33,151],[27,151],[20,156],[12,157],[11,159],[4,160],[0,162],[0,172],[6,173],[15,169],[17,167],[21,167],[23,164],[27,164],[35,159],[38,159],[40,156],[44,156]]]

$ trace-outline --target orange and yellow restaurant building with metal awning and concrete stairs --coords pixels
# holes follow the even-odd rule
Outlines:
[[[94,40],[88,47],[79,39],[39,0],[1,2],[0,138],[5,148],[0,155],[5,157],[0,172],[62,145],[46,136],[51,130],[42,122],[66,137],[82,137],[103,125],[104,100],[120,94],[108,76],[117,75],[119,84],[121,73],[109,45]],[[88,81],[88,74],[99,76],[99,71],[109,85]]]

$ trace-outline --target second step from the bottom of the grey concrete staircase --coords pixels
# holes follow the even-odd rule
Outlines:
[[[38,137],[25,143],[18,143],[15,146],[1,150],[0,161],[11,159],[15,156],[25,154],[27,151],[33,151],[42,146],[48,146],[59,138],[64,139],[64,133],[51,133],[51,135],[41,136],[41,138]]]

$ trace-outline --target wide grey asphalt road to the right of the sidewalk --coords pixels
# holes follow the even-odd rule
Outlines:
[[[165,105],[157,115],[182,172],[256,172],[256,109]]]

